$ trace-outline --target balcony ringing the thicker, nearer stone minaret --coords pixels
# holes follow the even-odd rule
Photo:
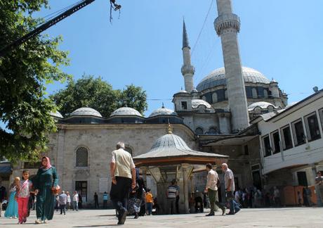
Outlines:
[[[235,29],[237,32],[240,31],[240,18],[234,13],[224,13],[218,16],[214,20],[214,28],[216,29],[216,34],[222,34],[223,30]]]

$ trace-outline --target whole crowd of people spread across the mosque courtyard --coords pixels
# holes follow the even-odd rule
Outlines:
[[[206,164],[207,181],[204,192],[191,194],[189,205],[190,212],[203,212],[205,207],[211,208],[206,216],[215,215],[220,208],[222,215],[235,215],[240,208],[261,208],[275,206],[281,203],[281,193],[274,186],[267,191],[261,191],[256,187],[235,189],[235,179],[228,164],[221,165],[224,174],[224,183],[220,184],[218,173],[213,170],[212,165]],[[135,167],[131,154],[124,150],[124,143],[119,142],[117,149],[112,151],[110,163],[110,173],[112,186],[110,199],[116,215],[118,224],[124,224],[127,215],[134,215],[135,219],[139,216],[158,214],[161,207],[157,198],[152,196],[151,189],[145,187],[143,177],[140,176],[138,168]],[[321,172],[317,172],[315,184],[323,196],[323,177]],[[220,186],[225,186],[225,200],[222,204],[218,201],[218,190]],[[322,191],[322,192],[321,192]],[[166,189],[166,213],[179,213],[178,202],[180,199],[180,189],[176,179]],[[68,191],[61,191],[58,186],[58,175],[55,167],[51,166],[48,157],[41,158],[41,167],[37,175],[29,179],[29,172],[24,170],[22,178],[15,177],[9,189],[8,203],[6,206],[5,217],[18,218],[18,223],[23,224],[29,217],[30,210],[36,209],[36,224],[46,223],[53,219],[56,209],[60,210],[60,215],[65,215],[67,210],[79,210],[81,208],[82,197],[74,191],[72,196]],[[302,191],[297,192],[298,205],[312,206],[312,192],[308,186],[304,186]],[[109,195],[103,194],[103,208],[107,208]],[[2,204],[6,203],[6,189],[0,183],[0,217]],[[98,194],[93,196],[94,208],[99,208]],[[228,213],[226,213],[228,211]]]

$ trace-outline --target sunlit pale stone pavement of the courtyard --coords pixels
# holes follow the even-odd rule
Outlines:
[[[4,213],[4,212],[3,212]],[[56,213],[56,212],[55,212]],[[67,215],[55,214],[47,224],[34,224],[35,213],[26,224],[17,224],[18,220],[0,217],[0,228],[5,227],[51,227],[51,228],[91,228],[91,227],[323,227],[323,208],[262,208],[242,209],[237,215],[205,217],[206,213],[188,215],[151,215],[127,217],[126,224],[117,225],[114,210],[68,211]]]

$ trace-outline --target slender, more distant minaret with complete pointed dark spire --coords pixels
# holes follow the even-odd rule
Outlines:
[[[193,75],[195,68],[191,65],[191,53],[190,44],[188,44],[187,32],[185,27],[185,21],[183,20],[183,66],[182,75],[185,82],[185,91],[191,92],[193,90]]]

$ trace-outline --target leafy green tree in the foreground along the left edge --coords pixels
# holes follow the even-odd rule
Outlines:
[[[34,13],[47,0],[0,0],[0,48],[32,31],[42,19]],[[67,52],[58,50],[61,37],[38,35],[0,58],[0,156],[36,159],[55,131],[50,113],[56,106],[45,97],[46,84],[70,76],[60,70]]]

